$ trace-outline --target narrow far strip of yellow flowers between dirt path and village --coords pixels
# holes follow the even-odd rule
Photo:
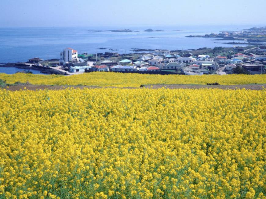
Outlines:
[[[45,85],[87,85],[87,86],[115,86],[140,87],[141,84],[207,84],[219,83],[223,85],[235,84],[266,84],[266,74],[262,75],[151,75],[136,73],[93,72],[80,75],[35,75],[16,73],[12,75],[0,73],[0,79],[7,84],[15,82]]]

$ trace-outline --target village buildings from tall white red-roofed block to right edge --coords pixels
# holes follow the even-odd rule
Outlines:
[[[87,53],[78,55],[77,50],[65,48],[60,53],[60,64],[69,66],[70,73],[113,71],[142,73],[172,72],[186,75],[220,74],[220,72],[221,74],[231,74],[237,66],[244,68],[250,74],[265,73],[265,56],[240,53],[239,48],[234,48],[235,54],[231,55],[231,57],[217,56],[211,58],[210,55],[194,56],[192,53],[189,53],[186,57],[181,57],[168,50],[156,50],[153,53],[141,54],[137,60],[122,59],[120,61],[111,61],[105,59],[98,62],[87,61],[85,59],[86,55],[88,55]]]

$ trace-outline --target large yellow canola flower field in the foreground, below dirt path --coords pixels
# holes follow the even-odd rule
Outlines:
[[[0,198],[266,198],[266,91],[0,90]]]

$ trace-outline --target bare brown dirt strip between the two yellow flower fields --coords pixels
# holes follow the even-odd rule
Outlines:
[[[190,84],[155,84],[155,85],[144,85],[143,88],[169,88],[169,89],[178,89],[178,88],[186,88],[186,89],[200,89],[200,88],[220,88],[220,89],[250,89],[250,90],[262,90],[263,87],[266,88],[266,84],[243,84],[243,85],[190,85]],[[24,87],[26,87],[27,90],[35,91],[36,89],[49,89],[49,90],[61,90],[68,87],[73,88],[101,88],[100,86],[58,86],[58,85],[10,85],[9,87],[5,87],[3,89],[6,89],[8,91],[19,91],[24,90]],[[111,88],[117,88],[117,87],[111,87]],[[126,89],[133,89],[136,87],[124,87]]]

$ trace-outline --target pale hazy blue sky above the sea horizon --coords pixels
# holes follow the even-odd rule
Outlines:
[[[266,0],[3,0],[0,27],[266,24]]]

